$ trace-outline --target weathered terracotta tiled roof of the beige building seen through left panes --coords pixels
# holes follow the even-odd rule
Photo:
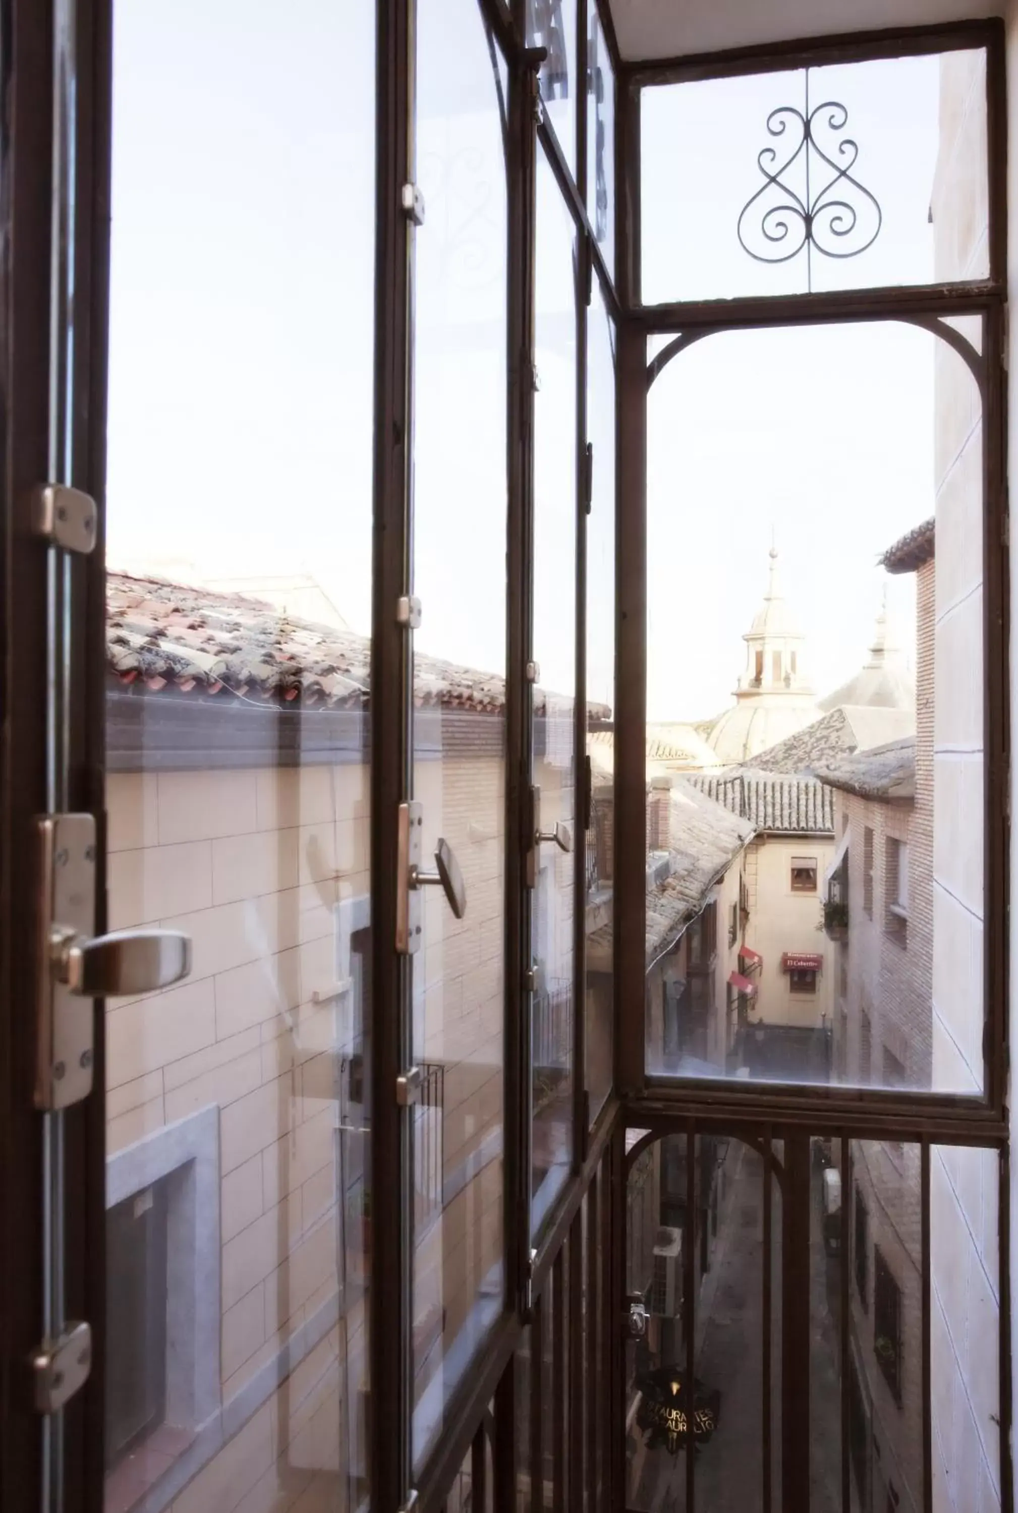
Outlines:
[[[371,642],[354,631],[283,614],[241,593],[115,572],[106,579],[106,604],[107,666],[121,684],[306,708],[371,702]],[[414,704],[501,710],[505,679],[417,654]],[[540,690],[535,711],[545,713]],[[601,705],[594,713],[610,714]]]

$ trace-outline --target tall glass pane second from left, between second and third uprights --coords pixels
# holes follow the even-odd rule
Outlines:
[[[417,163],[414,794],[466,914],[427,890],[413,959],[414,1463],[502,1307],[505,157],[476,0],[419,15]]]

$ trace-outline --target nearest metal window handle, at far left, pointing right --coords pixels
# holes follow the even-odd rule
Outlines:
[[[91,940],[54,930],[57,982],[88,999],[156,993],[191,971],[191,937],[180,930],[112,930]]]

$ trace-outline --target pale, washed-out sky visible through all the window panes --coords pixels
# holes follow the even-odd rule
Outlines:
[[[166,576],[309,573],[371,622],[372,6],[119,0],[115,21],[109,557]],[[457,59],[454,73],[449,57]],[[746,256],[767,113],[802,73],[653,91],[644,104],[644,295],[803,286]],[[505,657],[505,201],[498,95],[475,0],[419,17],[416,643]],[[924,281],[938,62],[815,70],[844,100],[883,224],[832,281]],[[566,107],[555,103],[561,124]],[[843,133],[844,135],[844,133]],[[685,144],[694,142],[694,151]],[[537,188],[535,632],[545,687],[573,667],[573,239]],[[731,702],[771,530],[818,691],[861,666],[877,555],[933,510],[933,345],[841,327],[715,336],[649,398],[649,713]],[[611,702],[611,343],[591,307],[590,696]],[[891,610],[909,637],[911,584]]]

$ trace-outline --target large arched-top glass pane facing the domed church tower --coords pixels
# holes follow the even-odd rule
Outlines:
[[[647,1068],[979,1094],[965,357],[889,324],[700,340],[650,387],[647,511]]]

